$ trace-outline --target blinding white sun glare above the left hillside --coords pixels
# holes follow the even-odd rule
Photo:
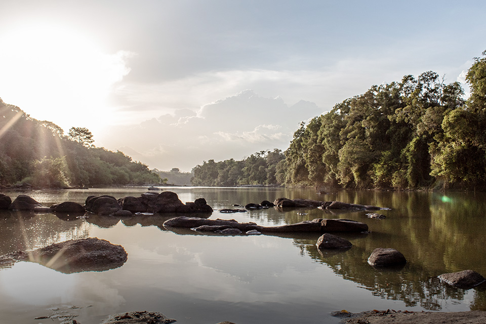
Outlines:
[[[130,72],[130,52],[104,53],[96,37],[67,25],[18,24],[0,31],[0,44],[0,98],[65,130],[101,127],[113,85]]]

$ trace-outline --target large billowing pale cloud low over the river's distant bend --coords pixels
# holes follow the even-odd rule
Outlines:
[[[109,136],[99,142],[151,168],[189,171],[203,160],[241,159],[261,150],[286,149],[299,122],[321,111],[312,102],[289,107],[280,97],[245,90],[197,111],[176,109],[138,124],[110,127]]]

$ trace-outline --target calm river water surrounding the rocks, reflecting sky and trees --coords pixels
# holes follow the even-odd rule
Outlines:
[[[66,311],[82,324],[108,314],[159,311],[181,324],[337,323],[331,311],[370,309],[486,310],[486,288],[460,290],[434,277],[465,269],[486,275],[486,196],[483,193],[349,192],[317,195],[303,189],[166,188],[182,201],[204,197],[211,218],[291,224],[314,218],[347,218],[369,225],[369,234],[341,235],[347,251],[319,252],[317,234],[215,236],[164,229],[180,215],[119,219],[89,215],[60,219],[52,214],[0,213],[0,254],[54,242],[99,237],[122,245],[128,261],[103,272],[64,274],[19,262],[0,268],[0,322],[59,323],[34,319]],[[138,196],[144,188],[27,192],[45,206],[83,204],[89,195]],[[19,192],[2,192],[15,198]],[[339,200],[375,205],[384,220],[366,212],[275,209],[237,214],[217,210],[278,197]],[[305,212],[307,215],[298,215]],[[395,248],[408,259],[400,270],[375,270],[366,262],[375,248]],[[73,308],[73,306],[75,308]],[[72,322],[72,321],[71,321]]]

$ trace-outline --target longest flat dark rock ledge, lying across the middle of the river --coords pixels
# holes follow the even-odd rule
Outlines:
[[[282,225],[282,226],[259,226],[256,223],[238,223],[234,219],[204,219],[198,217],[180,216],[171,218],[164,222],[164,227],[170,229],[171,227],[192,228],[196,231],[212,231],[213,229],[221,230],[236,228],[240,231],[246,232],[249,230],[257,230],[261,233],[302,233],[302,232],[362,232],[368,230],[368,225],[352,221],[349,219],[322,219],[317,218],[312,221],[303,221],[296,224]]]

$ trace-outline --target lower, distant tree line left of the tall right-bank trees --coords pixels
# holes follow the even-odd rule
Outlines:
[[[278,184],[278,163],[285,158],[279,149],[256,152],[242,160],[204,161],[192,169],[194,186],[234,187]]]

